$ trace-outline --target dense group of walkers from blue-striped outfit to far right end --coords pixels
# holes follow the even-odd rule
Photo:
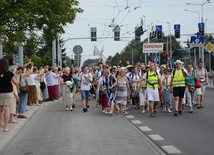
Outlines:
[[[142,109],[142,113],[151,112],[151,116],[157,114],[157,105],[160,103],[164,111],[174,115],[182,115],[182,110],[187,106],[189,113],[193,113],[193,107],[203,108],[203,96],[208,84],[208,73],[199,61],[193,68],[177,60],[175,69],[151,62],[150,65],[138,64],[128,67],[109,67],[102,65],[94,70],[93,76],[97,82],[97,101],[102,106],[104,113],[113,115],[115,109],[119,113],[125,113],[127,104],[132,104],[136,109]]]

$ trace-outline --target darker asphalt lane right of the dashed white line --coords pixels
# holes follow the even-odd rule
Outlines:
[[[173,113],[164,112],[160,106],[157,116],[150,117],[150,112],[142,114],[141,110],[129,108],[130,121],[138,120],[151,131],[144,131],[149,135],[159,135],[162,139],[155,140],[161,146],[173,145],[186,155],[214,154],[214,89],[207,88],[202,109],[194,108],[190,114],[188,108],[183,115],[175,117]],[[137,127],[142,124],[136,124]]]

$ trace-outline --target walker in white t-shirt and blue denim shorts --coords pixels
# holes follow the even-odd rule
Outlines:
[[[90,82],[92,82],[92,76],[88,72],[87,66],[82,67],[82,72],[80,73],[78,80],[78,87],[80,88],[82,97],[83,112],[87,112],[89,108],[88,101],[91,89]]]

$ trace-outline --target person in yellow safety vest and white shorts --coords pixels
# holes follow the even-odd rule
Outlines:
[[[156,116],[156,106],[160,101],[158,87],[162,89],[161,76],[155,70],[155,64],[150,64],[149,71],[143,75],[143,80],[146,80],[146,94],[149,101],[149,107],[151,110],[151,117]],[[162,91],[162,90],[161,90]]]

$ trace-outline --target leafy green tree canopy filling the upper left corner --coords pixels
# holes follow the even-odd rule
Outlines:
[[[30,31],[48,33],[50,38],[64,33],[64,26],[72,24],[76,13],[83,10],[77,0],[1,0],[0,34],[10,42],[26,40]]]

